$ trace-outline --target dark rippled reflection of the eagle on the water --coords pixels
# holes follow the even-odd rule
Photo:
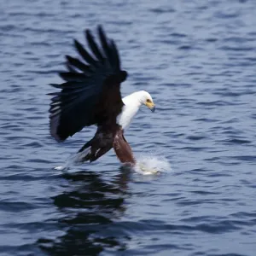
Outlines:
[[[95,172],[63,174],[67,189],[53,200],[61,212],[57,221],[65,235],[55,241],[41,238],[39,247],[51,255],[96,255],[113,247],[124,250],[129,236],[112,224],[125,212],[129,175],[125,168],[113,181],[104,181]]]

